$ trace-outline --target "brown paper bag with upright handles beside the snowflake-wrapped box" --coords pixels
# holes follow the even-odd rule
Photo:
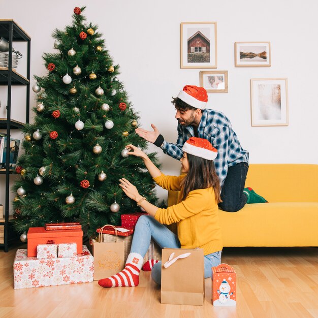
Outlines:
[[[111,226],[115,229],[115,242],[103,242],[103,229]],[[124,268],[124,243],[117,242],[117,230],[112,225],[101,228],[99,240],[93,243],[94,280],[117,274]]]

